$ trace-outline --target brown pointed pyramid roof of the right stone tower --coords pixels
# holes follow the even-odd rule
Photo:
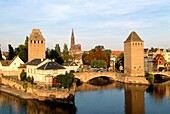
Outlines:
[[[136,32],[131,32],[124,43],[127,42],[143,42],[143,40],[138,36]]]

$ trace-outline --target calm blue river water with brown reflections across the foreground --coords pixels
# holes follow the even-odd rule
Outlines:
[[[169,114],[170,83],[157,86],[114,82],[82,84],[75,105],[22,100],[0,92],[0,114]]]

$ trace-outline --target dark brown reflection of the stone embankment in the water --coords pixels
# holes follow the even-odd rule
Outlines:
[[[54,102],[22,100],[0,92],[0,112],[2,114],[75,114],[76,107]]]

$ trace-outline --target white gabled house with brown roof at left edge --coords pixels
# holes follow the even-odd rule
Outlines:
[[[4,76],[18,76],[21,73],[19,67],[23,64],[24,62],[19,58],[19,56],[14,57],[13,60],[1,60],[0,72]]]

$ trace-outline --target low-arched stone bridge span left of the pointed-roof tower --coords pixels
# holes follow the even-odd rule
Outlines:
[[[89,80],[101,76],[109,77],[112,80],[116,80],[115,72],[81,72],[74,73],[75,78],[80,79],[81,82],[88,82]]]

